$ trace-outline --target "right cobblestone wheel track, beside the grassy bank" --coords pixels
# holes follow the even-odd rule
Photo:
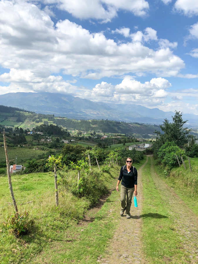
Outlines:
[[[155,173],[153,158],[151,158],[151,177],[156,188],[163,193],[163,199],[171,205],[169,213],[175,219],[178,236],[183,243],[184,250],[190,254],[191,263],[198,263],[198,218],[196,214]]]

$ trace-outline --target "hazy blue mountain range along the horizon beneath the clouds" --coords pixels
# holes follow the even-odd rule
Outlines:
[[[173,112],[141,105],[106,104],[93,102],[65,94],[55,93],[8,93],[0,95],[0,105],[19,107],[41,114],[54,114],[74,119],[109,119],[126,122],[161,124],[164,118],[172,119]],[[183,115],[189,124],[197,126],[198,116]],[[187,116],[187,117],[186,117]]]

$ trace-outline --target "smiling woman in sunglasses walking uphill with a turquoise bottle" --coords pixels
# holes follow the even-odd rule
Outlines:
[[[116,186],[116,191],[118,192],[118,185],[121,182],[121,212],[120,215],[124,214],[126,210],[126,218],[131,218],[130,208],[131,208],[131,200],[133,197],[133,192],[135,196],[138,194],[137,192],[137,179],[138,172],[135,167],[132,166],[133,160],[131,158],[126,159],[126,165],[121,167],[120,176],[118,178],[118,183]]]

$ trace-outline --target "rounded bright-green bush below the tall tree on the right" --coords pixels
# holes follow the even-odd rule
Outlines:
[[[166,142],[158,151],[158,160],[169,167],[174,167],[178,164],[176,155],[180,162],[182,162],[181,156],[184,160],[187,158],[185,151],[181,150],[174,142]]]

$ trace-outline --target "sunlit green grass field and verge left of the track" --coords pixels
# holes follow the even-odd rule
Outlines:
[[[140,164],[134,164],[134,166],[138,169],[144,162],[145,160],[141,160]],[[119,170],[120,167],[113,167],[111,175],[104,174],[108,189],[116,186]],[[60,180],[59,176],[58,180]],[[60,189],[60,207],[56,208],[54,177],[50,173],[13,175],[12,184],[19,211],[30,212],[35,220],[35,229],[32,234],[21,238],[14,237],[12,233],[3,229],[3,232],[0,232],[0,263],[38,263],[40,257],[37,259],[36,256],[43,251],[42,258],[49,260],[45,263],[58,264],[64,261],[69,264],[78,260],[80,264],[91,264],[93,260],[97,260],[98,255],[105,252],[105,244],[112,238],[119,219],[116,211],[114,218],[108,217],[110,208],[115,205],[120,207],[119,194],[116,191],[112,192],[102,209],[96,214],[95,221],[82,232],[78,222],[90,206],[88,199],[79,199],[70,192]],[[6,204],[11,202],[7,177],[0,177],[0,190],[0,221],[2,222],[4,216],[13,212],[13,207]],[[23,204],[29,201],[32,202]],[[61,241],[68,243],[63,245]],[[53,255],[52,248],[55,251],[58,250],[58,258]]]

